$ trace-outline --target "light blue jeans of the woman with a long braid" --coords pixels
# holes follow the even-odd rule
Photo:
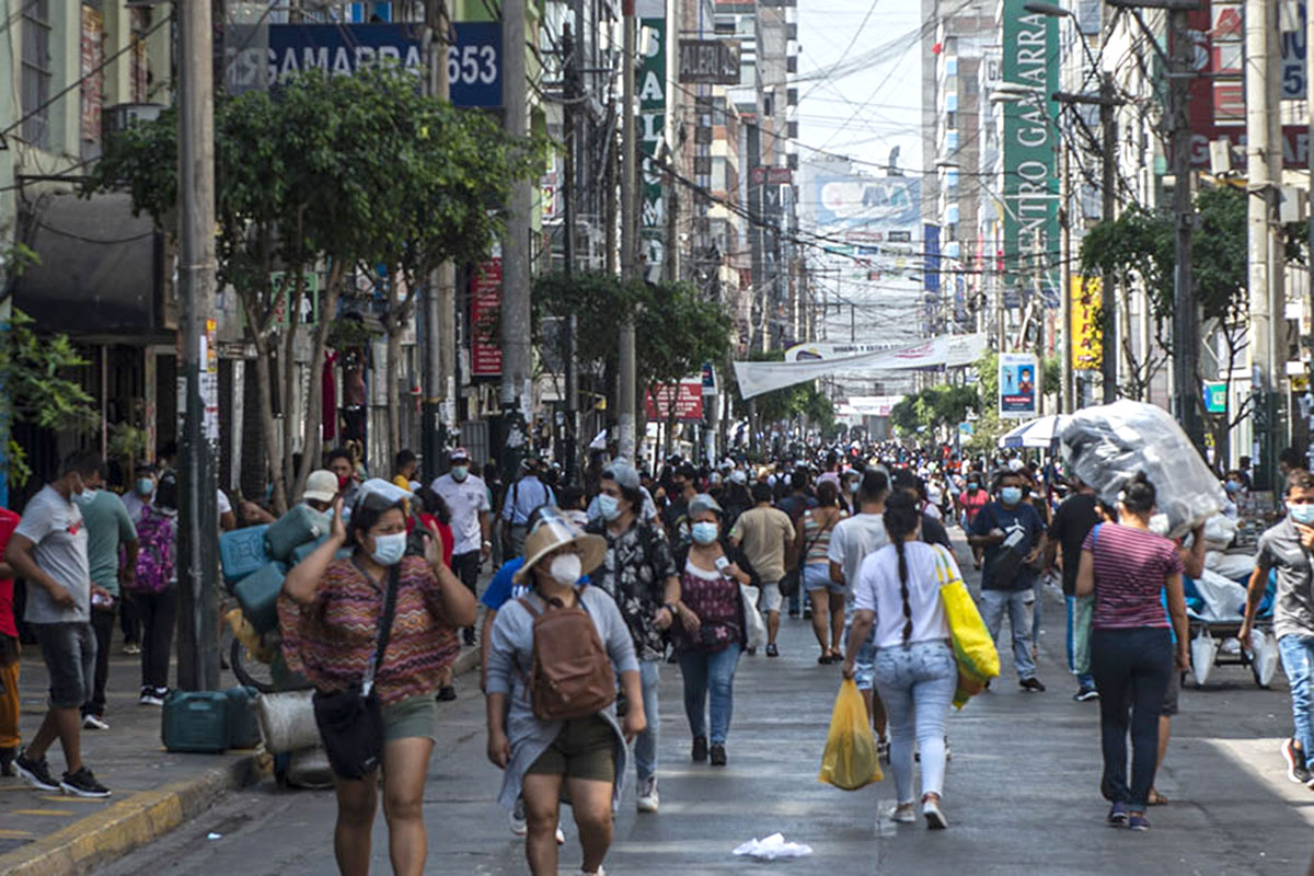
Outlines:
[[[876,692],[890,717],[890,768],[901,804],[913,801],[913,738],[921,753],[921,793],[943,793],[945,718],[957,687],[958,662],[949,642],[876,651]]]

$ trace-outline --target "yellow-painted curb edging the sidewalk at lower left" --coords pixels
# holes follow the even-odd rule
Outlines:
[[[478,666],[480,649],[463,647],[452,674],[465,675]],[[214,805],[219,795],[260,781],[269,775],[269,763],[263,751],[251,751],[196,779],[134,793],[49,837],[0,855],[0,873],[72,876],[117,860],[196,818]]]

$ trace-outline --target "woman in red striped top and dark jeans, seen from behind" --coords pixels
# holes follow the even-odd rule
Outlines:
[[[1150,829],[1144,813],[1154,787],[1159,714],[1172,672],[1189,666],[1181,556],[1172,541],[1151,532],[1154,510],[1155,487],[1142,471],[1118,494],[1120,523],[1100,524],[1085,537],[1076,574],[1076,595],[1095,594],[1091,675],[1100,691],[1100,787],[1112,804],[1109,823],[1133,830]],[[1164,591],[1167,617],[1160,602]]]

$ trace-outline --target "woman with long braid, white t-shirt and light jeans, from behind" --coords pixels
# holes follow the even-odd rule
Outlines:
[[[921,809],[926,826],[949,825],[940,809],[945,780],[945,718],[958,686],[958,663],[940,598],[937,563],[958,566],[941,546],[918,541],[921,512],[912,496],[886,500],[891,544],[862,561],[854,592],[857,613],[844,662],[853,678],[858,649],[875,626],[876,692],[890,717],[890,767],[899,802],[892,818],[916,821],[912,796],[913,747],[921,753]]]

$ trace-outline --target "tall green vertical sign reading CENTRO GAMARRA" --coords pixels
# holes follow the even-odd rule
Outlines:
[[[1031,92],[1003,104],[1004,282],[1030,294],[1059,289],[1059,26],[1025,5],[1004,0],[1004,84]]]

